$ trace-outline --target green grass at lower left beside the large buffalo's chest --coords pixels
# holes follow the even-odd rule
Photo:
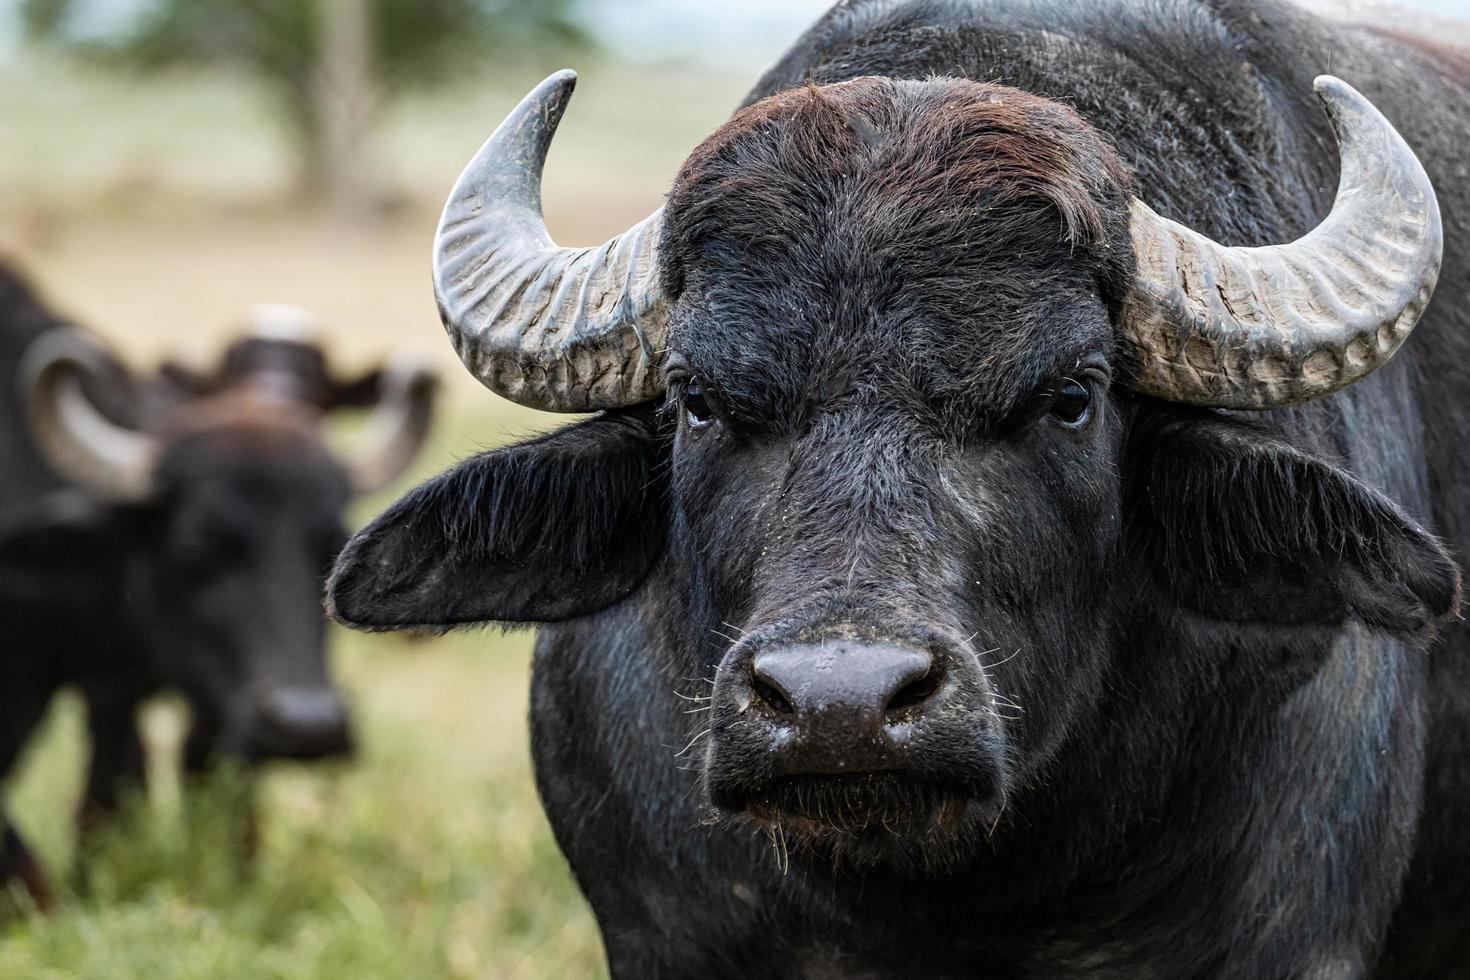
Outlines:
[[[476,430],[441,426],[419,472]],[[392,497],[390,492],[387,497]],[[384,501],[368,501],[365,517]],[[179,704],[144,714],[154,779],[74,860],[82,721],[63,696],[10,780],[9,813],[62,884],[50,915],[0,926],[0,977],[82,980],[603,974],[597,929],[531,780],[531,636],[437,639],[335,630],[356,711],[347,764],[275,765],[259,780],[260,846],[243,870],[243,777],[182,793]],[[87,887],[78,887],[85,868]]]

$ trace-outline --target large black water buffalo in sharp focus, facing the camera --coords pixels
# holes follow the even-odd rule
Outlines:
[[[490,388],[603,413],[407,495],[329,601],[548,624],[614,976],[1467,976],[1466,54],[853,0],[597,250],[539,220],[570,87],[435,282]]]

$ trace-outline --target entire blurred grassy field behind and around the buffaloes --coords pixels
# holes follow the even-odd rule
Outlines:
[[[0,259],[131,361],[207,361],[250,303],[303,303],[343,367],[412,348],[444,366],[445,422],[417,467],[554,423],[485,394],[444,342],[428,289],[435,212],[514,97],[557,65],[397,107],[379,143],[398,206],[328,226],[290,197],[257,91],[228,75],[116,79],[37,63],[0,71]],[[684,154],[747,79],[592,65],[548,166],[553,231],[600,241],[657,206]],[[391,500],[365,501],[363,520]],[[262,846],[231,857],[232,780],[181,799],[182,716],[146,717],[159,779],[50,917],[0,924],[0,977],[567,979],[601,973],[597,932],[531,782],[528,635],[413,642],[332,635],[362,751],[275,767]],[[7,808],[57,880],[82,765],[63,699],[7,786]]]

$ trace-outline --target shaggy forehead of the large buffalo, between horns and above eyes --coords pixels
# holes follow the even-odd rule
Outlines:
[[[1003,417],[1111,345],[1125,185],[1086,123],[1014,90],[858,79],[757,103],[670,195],[673,345],[753,419],[848,397]]]

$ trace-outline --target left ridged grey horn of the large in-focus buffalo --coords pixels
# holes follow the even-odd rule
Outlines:
[[[663,389],[663,210],[598,248],[562,248],[541,216],[541,167],[576,73],[537,85],[485,141],[444,206],[434,295],[460,360],[534,408],[591,411]]]

